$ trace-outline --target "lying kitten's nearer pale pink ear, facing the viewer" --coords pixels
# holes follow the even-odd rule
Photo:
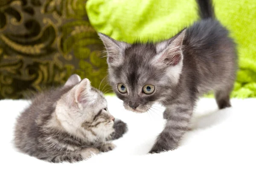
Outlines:
[[[88,99],[90,99],[90,88],[90,80],[86,78],[75,86],[76,103],[85,103]]]

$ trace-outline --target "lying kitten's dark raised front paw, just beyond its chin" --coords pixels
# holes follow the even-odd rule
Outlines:
[[[112,140],[122,137],[127,131],[127,124],[121,120],[116,120],[113,125],[114,132],[111,134]]]

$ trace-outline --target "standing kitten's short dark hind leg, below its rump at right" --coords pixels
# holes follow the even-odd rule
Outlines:
[[[223,90],[217,90],[215,91],[215,99],[218,104],[219,109],[224,109],[226,107],[231,107],[230,104],[230,93],[233,89],[233,86],[231,87],[224,87]]]

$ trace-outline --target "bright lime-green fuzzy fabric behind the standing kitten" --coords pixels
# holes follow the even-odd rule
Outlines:
[[[213,3],[216,17],[238,44],[232,97],[256,97],[256,0]],[[199,19],[195,0],[88,0],[86,9],[96,31],[125,42],[168,39]]]

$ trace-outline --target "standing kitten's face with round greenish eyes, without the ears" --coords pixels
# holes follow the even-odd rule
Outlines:
[[[155,55],[152,44],[133,45],[123,54],[122,64],[109,67],[110,84],[125,109],[143,113],[168,90],[166,70],[151,63]]]

